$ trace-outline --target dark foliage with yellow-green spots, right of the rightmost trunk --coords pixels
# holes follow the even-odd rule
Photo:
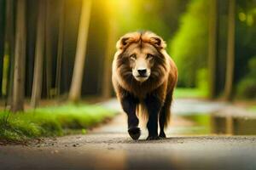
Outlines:
[[[252,0],[239,0],[236,4],[236,82],[247,77],[247,64],[256,55],[256,8],[252,4]]]

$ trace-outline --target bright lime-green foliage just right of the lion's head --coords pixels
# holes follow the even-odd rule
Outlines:
[[[178,85],[191,88],[196,85],[196,72],[207,67],[207,1],[191,1],[180,25],[170,42],[170,54],[179,71]]]

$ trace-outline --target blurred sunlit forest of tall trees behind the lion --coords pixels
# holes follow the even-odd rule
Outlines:
[[[255,102],[255,0],[0,0],[0,127],[13,112],[28,111],[27,120],[45,105],[61,114],[114,98],[115,43],[137,30],[166,41],[177,98]]]

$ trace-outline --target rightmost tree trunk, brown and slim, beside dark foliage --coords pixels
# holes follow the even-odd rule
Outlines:
[[[230,0],[228,17],[228,43],[227,43],[227,62],[226,62],[226,82],[224,87],[224,98],[232,99],[234,65],[235,65],[235,11],[236,2]]]

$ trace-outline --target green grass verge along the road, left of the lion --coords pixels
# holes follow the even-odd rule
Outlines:
[[[40,137],[62,136],[95,126],[115,115],[99,105],[62,105],[20,113],[0,111],[0,140],[22,142]]]

